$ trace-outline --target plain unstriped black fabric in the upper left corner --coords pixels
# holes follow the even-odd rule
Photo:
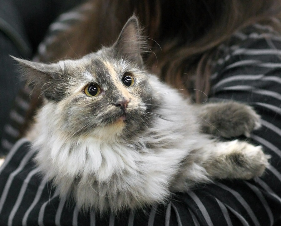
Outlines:
[[[4,126],[23,81],[10,55],[31,58],[51,22],[62,12],[84,0],[0,0],[0,156],[5,155],[17,137]],[[17,119],[21,120],[19,117]],[[5,134],[5,135],[4,135]],[[8,141],[9,140],[9,141]]]

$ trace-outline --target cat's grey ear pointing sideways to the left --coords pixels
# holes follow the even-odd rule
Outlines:
[[[12,56],[11,56],[12,57]],[[59,64],[44,64],[12,57],[19,63],[19,70],[27,85],[47,99],[60,100],[63,90],[58,86],[62,79],[62,67]]]

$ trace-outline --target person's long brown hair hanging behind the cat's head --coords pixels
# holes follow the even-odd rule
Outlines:
[[[208,94],[216,47],[254,22],[280,30],[274,20],[280,17],[280,7],[280,0],[93,0],[79,9],[86,19],[59,33],[47,45],[47,54],[39,57],[41,61],[76,58],[110,45],[135,13],[152,50],[145,56],[151,71],[176,88]],[[196,92],[196,101],[201,99],[201,92]]]

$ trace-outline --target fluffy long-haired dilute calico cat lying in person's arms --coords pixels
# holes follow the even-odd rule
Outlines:
[[[44,96],[27,133],[41,174],[80,209],[165,203],[214,179],[261,176],[269,156],[245,141],[260,117],[237,102],[190,104],[144,65],[135,16],[111,47],[76,60],[19,62]]]

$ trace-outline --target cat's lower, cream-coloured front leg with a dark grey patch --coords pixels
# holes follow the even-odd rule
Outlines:
[[[172,183],[172,190],[183,191],[194,184],[214,179],[251,179],[261,176],[269,165],[269,158],[261,146],[239,140],[212,141],[196,148],[184,160]]]

